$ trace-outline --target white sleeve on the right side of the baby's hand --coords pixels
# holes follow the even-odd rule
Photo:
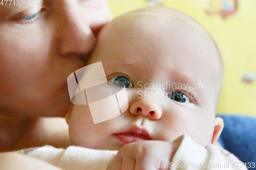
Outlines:
[[[172,170],[247,169],[236,156],[224,149],[218,149],[214,144],[209,144],[206,148],[203,148],[186,134],[179,136],[173,142],[181,144],[172,159],[172,164],[170,165]],[[239,166],[237,167],[238,164]]]

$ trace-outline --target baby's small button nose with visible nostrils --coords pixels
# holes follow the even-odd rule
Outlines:
[[[141,98],[132,103],[130,107],[132,115],[148,116],[150,119],[157,120],[162,116],[162,110],[155,99]]]

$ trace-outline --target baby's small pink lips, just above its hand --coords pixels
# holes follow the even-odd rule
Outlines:
[[[140,128],[132,128],[126,132],[114,134],[123,144],[144,141],[144,140],[152,140],[150,135],[148,135],[147,131]]]

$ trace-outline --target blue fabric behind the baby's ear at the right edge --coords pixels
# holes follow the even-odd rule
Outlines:
[[[242,162],[255,162],[256,164],[256,118],[234,115],[217,116],[224,120],[224,128],[218,140],[222,147],[236,155]]]

